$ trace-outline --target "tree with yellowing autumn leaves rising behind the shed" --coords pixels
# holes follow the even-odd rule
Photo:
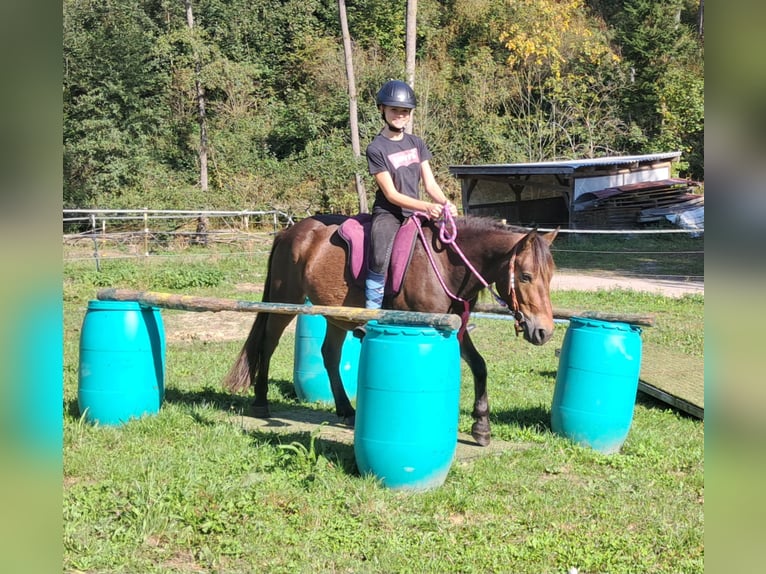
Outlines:
[[[582,0],[520,0],[500,36],[512,70],[511,138],[527,161],[612,153],[619,58]]]

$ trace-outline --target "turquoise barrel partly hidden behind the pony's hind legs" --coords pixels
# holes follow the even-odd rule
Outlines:
[[[298,315],[295,327],[293,384],[298,400],[332,403],[330,378],[322,359],[322,343],[327,332],[327,320],[321,315]],[[361,342],[349,331],[340,357],[340,378],[350,400],[356,399],[357,373]]]

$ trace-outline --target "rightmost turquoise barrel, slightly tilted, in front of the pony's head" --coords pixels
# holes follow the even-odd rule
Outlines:
[[[604,454],[618,452],[633,422],[641,329],[572,317],[561,347],[551,429]]]

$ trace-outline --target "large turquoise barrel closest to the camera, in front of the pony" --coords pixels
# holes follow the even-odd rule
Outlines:
[[[362,474],[392,489],[441,486],[457,448],[459,403],[455,331],[367,324],[354,429]]]

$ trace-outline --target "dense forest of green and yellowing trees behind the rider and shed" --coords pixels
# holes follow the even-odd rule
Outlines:
[[[419,0],[414,133],[448,196],[450,165],[665,151],[704,181],[703,1]],[[407,0],[345,7],[363,151]],[[339,2],[64,0],[63,27],[64,208],[355,213],[355,173],[372,198]]]

